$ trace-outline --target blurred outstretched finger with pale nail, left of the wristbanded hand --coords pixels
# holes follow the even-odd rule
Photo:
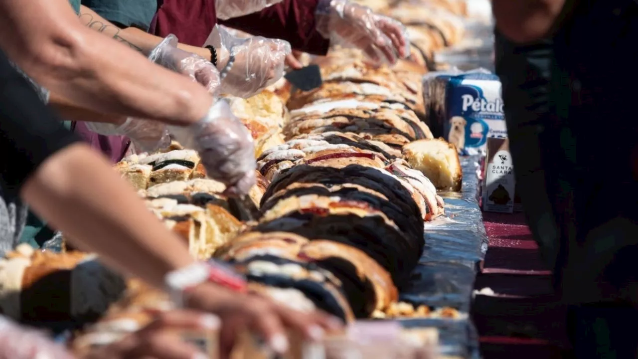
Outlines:
[[[156,319],[149,323],[143,330],[154,331],[165,328],[214,330],[219,328],[219,318],[208,313],[195,310],[171,310],[158,313]]]

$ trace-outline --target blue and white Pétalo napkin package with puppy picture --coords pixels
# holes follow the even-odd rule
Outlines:
[[[507,137],[501,82],[496,75],[451,77],[445,97],[445,138],[463,154],[485,153],[489,137]]]

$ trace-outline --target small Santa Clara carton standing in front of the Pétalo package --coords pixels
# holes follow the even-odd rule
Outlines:
[[[487,139],[483,210],[512,213],[516,197],[514,166],[509,149],[509,139]]]

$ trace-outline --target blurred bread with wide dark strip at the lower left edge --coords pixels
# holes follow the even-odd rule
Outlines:
[[[25,243],[0,259],[0,309],[18,321],[97,319],[124,289],[124,280],[91,254],[43,252]]]

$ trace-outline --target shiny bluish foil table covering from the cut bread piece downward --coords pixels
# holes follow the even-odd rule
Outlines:
[[[479,156],[461,158],[461,192],[441,192],[447,218],[425,226],[426,249],[399,300],[434,308],[470,311],[474,280],[487,252],[487,233],[479,208]],[[440,330],[445,355],[479,358],[478,337],[469,319],[406,319],[406,326]]]

